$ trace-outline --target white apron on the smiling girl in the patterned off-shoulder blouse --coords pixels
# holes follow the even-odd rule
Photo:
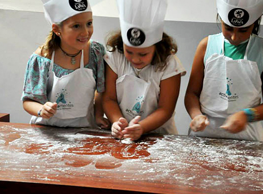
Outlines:
[[[47,99],[58,104],[56,114],[50,119],[32,116],[30,123],[58,127],[95,127],[95,80],[92,69],[84,68],[83,51],[80,68],[61,78],[53,72],[55,52],[49,68]]]

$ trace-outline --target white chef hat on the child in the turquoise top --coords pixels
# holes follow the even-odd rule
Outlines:
[[[263,0],[217,0],[218,14],[231,27],[252,25],[263,12]]]

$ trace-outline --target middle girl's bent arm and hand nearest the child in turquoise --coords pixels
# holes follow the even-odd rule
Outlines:
[[[180,91],[180,82],[180,74],[162,80],[160,83],[158,108],[141,121],[139,121],[139,117],[132,119],[129,127],[123,131],[124,137],[136,140],[141,134],[153,131],[167,122],[175,110]]]

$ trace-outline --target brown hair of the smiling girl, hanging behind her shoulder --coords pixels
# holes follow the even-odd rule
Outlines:
[[[62,23],[57,24],[59,27],[62,27]],[[52,52],[56,50],[60,45],[60,37],[57,36],[53,31],[47,35],[44,44],[41,46],[41,54],[43,57],[49,58],[52,56]]]

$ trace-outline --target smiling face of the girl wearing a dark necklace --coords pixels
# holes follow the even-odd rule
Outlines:
[[[83,50],[93,33],[92,22],[92,12],[84,12],[64,20],[61,27],[55,25],[53,31],[60,37],[63,50],[68,53]]]

